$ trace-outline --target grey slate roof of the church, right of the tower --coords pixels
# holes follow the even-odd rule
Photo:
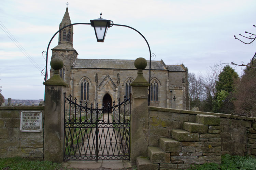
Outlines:
[[[135,60],[110,60],[110,59],[76,59],[73,68],[95,68],[95,69],[136,69]],[[147,61],[149,69],[150,61]],[[169,69],[168,69],[169,67]],[[185,71],[181,65],[165,65],[163,61],[151,61],[152,70]]]

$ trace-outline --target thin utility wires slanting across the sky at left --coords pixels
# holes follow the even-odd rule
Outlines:
[[[41,67],[33,60],[33,58],[28,54],[28,52],[19,44],[17,39],[11,34],[11,32],[4,26],[4,24],[0,21],[0,28],[3,32],[13,41],[13,43],[18,47],[18,49],[28,58],[28,60],[41,72]]]

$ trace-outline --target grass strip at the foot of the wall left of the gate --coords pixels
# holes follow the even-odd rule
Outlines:
[[[0,158],[1,170],[71,170],[50,161],[28,160],[24,158]]]

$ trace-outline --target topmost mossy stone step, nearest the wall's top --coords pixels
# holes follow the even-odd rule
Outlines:
[[[219,126],[221,124],[221,120],[219,116],[213,115],[197,115],[196,123],[203,125],[216,125]]]

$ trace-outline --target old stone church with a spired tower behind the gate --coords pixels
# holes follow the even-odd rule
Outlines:
[[[59,29],[71,24],[68,8]],[[131,93],[130,83],[137,77],[134,60],[79,59],[73,48],[73,26],[59,33],[58,45],[52,49],[52,58],[59,57],[64,66],[61,78],[69,85],[67,95],[83,103],[106,105]],[[148,80],[149,61],[143,71]],[[190,107],[188,97],[187,68],[182,65],[166,65],[161,61],[151,62],[150,105],[186,109]],[[51,69],[50,76],[53,75]]]

